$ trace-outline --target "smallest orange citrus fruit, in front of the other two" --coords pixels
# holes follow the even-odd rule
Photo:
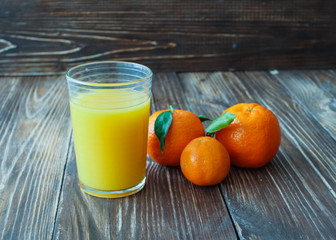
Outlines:
[[[192,183],[210,186],[224,180],[230,170],[230,156],[215,138],[199,137],[192,140],[181,155],[181,170]]]

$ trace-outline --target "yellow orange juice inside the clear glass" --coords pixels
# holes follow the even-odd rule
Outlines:
[[[149,108],[148,96],[127,90],[104,90],[70,100],[82,184],[122,190],[144,179]]]

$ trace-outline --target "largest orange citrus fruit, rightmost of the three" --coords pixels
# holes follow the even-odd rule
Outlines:
[[[257,103],[240,103],[225,112],[236,114],[236,118],[216,132],[216,139],[228,150],[231,163],[244,168],[259,168],[269,163],[281,141],[274,113]]]

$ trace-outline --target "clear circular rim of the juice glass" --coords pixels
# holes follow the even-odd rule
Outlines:
[[[139,78],[138,80],[129,81],[129,82],[123,82],[123,83],[94,83],[94,82],[85,82],[85,81],[73,78],[73,77],[71,77],[69,75],[71,71],[73,71],[73,70],[75,70],[77,68],[82,68],[82,67],[85,67],[87,65],[103,64],[103,63],[121,63],[121,64],[125,64],[126,63],[126,64],[132,64],[132,65],[136,65],[138,67],[145,68],[146,70],[148,70],[148,74],[144,78]],[[83,63],[83,64],[79,64],[79,65],[73,66],[73,67],[69,68],[66,71],[66,73],[65,73],[66,78],[68,80],[72,81],[72,82],[79,83],[79,84],[86,85],[86,86],[99,86],[99,87],[128,86],[128,85],[132,85],[132,84],[135,84],[135,83],[145,82],[147,79],[149,79],[150,77],[152,77],[152,75],[153,75],[153,72],[152,72],[152,70],[149,67],[147,67],[145,65],[142,65],[140,63],[127,62],[127,61],[95,61],[95,62],[88,62],[88,63]]]

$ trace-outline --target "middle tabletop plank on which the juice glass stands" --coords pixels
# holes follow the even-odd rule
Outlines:
[[[175,74],[156,74],[152,111],[186,108]],[[121,199],[82,193],[71,148],[60,198],[55,239],[237,239],[218,187],[195,187],[177,167],[147,161],[147,183]]]

